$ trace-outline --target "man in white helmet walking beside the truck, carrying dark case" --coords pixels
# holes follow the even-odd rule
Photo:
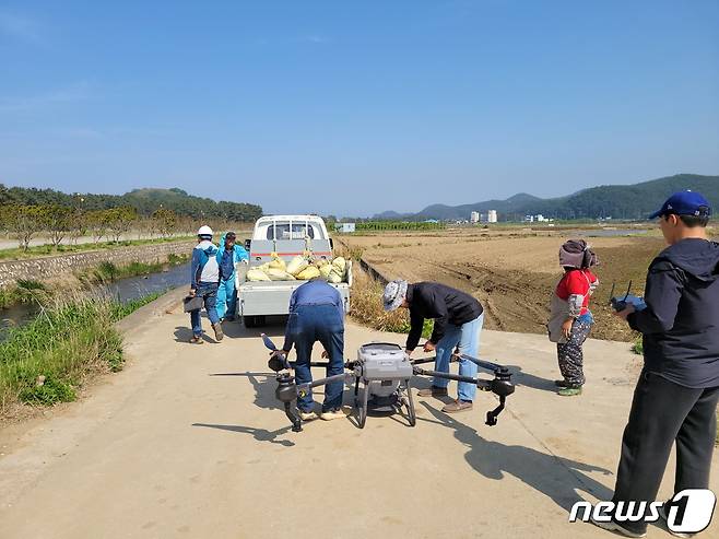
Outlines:
[[[220,317],[215,308],[217,300],[217,282],[220,281],[220,269],[217,266],[217,247],[212,243],[212,229],[208,225],[200,226],[198,231],[198,244],[192,249],[190,261],[190,296],[202,297],[208,318],[214,329],[215,339],[221,341],[224,337]],[[200,309],[190,312],[192,324],[192,344],[203,344],[202,319]]]

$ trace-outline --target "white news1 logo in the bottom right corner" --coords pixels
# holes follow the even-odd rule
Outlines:
[[[569,522],[585,523],[656,523],[667,519],[667,527],[676,534],[698,534],[711,523],[717,496],[708,489],[687,489],[674,494],[667,503],[662,502],[577,502],[571,507]],[[581,517],[579,512],[584,509]]]

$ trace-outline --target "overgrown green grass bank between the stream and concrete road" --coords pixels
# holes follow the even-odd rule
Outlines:
[[[50,406],[76,398],[93,374],[122,368],[122,338],[114,326],[161,293],[121,305],[78,297],[42,310],[0,342],[0,417],[19,405]]]

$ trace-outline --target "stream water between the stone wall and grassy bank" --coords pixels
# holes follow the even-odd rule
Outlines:
[[[139,297],[143,297],[153,292],[162,292],[189,283],[190,265],[184,263],[173,266],[164,271],[150,273],[146,276],[128,277],[118,279],[109,284],[98,286],[101,293],[118,302],[126,303]],[[188,284],[189,288],[189,284]],[[4,330],[11,327],[21,326],[35,317],[38,307],[33,304],[14,305],[10,308],[0,309],[0,340]]]

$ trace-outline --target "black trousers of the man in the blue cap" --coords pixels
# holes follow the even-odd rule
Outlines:
[[[717,436],[719,387],[692,389],[643,371],[622,438],[614,502],[657,501],[672,445],[676,442],[674,492],[707,489]],[[644,523],[624,523],[644,531]]]

